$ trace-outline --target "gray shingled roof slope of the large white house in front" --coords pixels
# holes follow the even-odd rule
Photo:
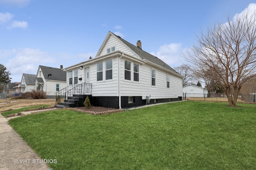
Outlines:
[[[112,33],[112,32],[111,32]],[[115,35],[114,33],[112,33]],[[116,35],[118,39],[120,39],[125,45],[127,45],[132,51],[134,51],[136,54],[138,54],[142,59],[145,59],[147,61],[151,61],[152,63],[158,64],[159,66],[162,66],[172,72],[177,73],[172,67],[170,67],[168,64],[164,63],[161,59],[158,59],[154,55],[151,55],[150,53],[147,53],[146,51],[143,51],[139,47],[136,47],[135,45],[129,43],[128,41],[122,39],[118,35]]]

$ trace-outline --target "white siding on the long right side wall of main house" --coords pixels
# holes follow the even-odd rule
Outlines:
[[[139,64],[139,82],[133,81],[133,79],[125,80],[124,60],[129,61],[128,59],[121,59],[120,62],[121,96],[142,96],[143,99],[149,95],[151,99],[178,98],[182,96],[182,78],[169,74],[170,88],[167,88],[167,73],[148,64]],[[156,70],[156,86],[151,86],[151,68]]]

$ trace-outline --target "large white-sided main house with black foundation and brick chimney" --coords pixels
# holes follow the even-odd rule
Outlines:
[[[67,84],[90,83],[94,106],[128,108],[182,100],[182,78],[173,68],[108,32],[95,58],[68,66]],[[150,100],[148,100],[150,99]]]

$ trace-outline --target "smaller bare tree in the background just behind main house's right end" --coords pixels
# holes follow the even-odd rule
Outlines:
[[[192,76],[192,71],[189,64],[181,64],[180,66],[174,67],[174,70],[185,77],[182,80],[183,86],[186,86],[193,82],[194,78]]]

